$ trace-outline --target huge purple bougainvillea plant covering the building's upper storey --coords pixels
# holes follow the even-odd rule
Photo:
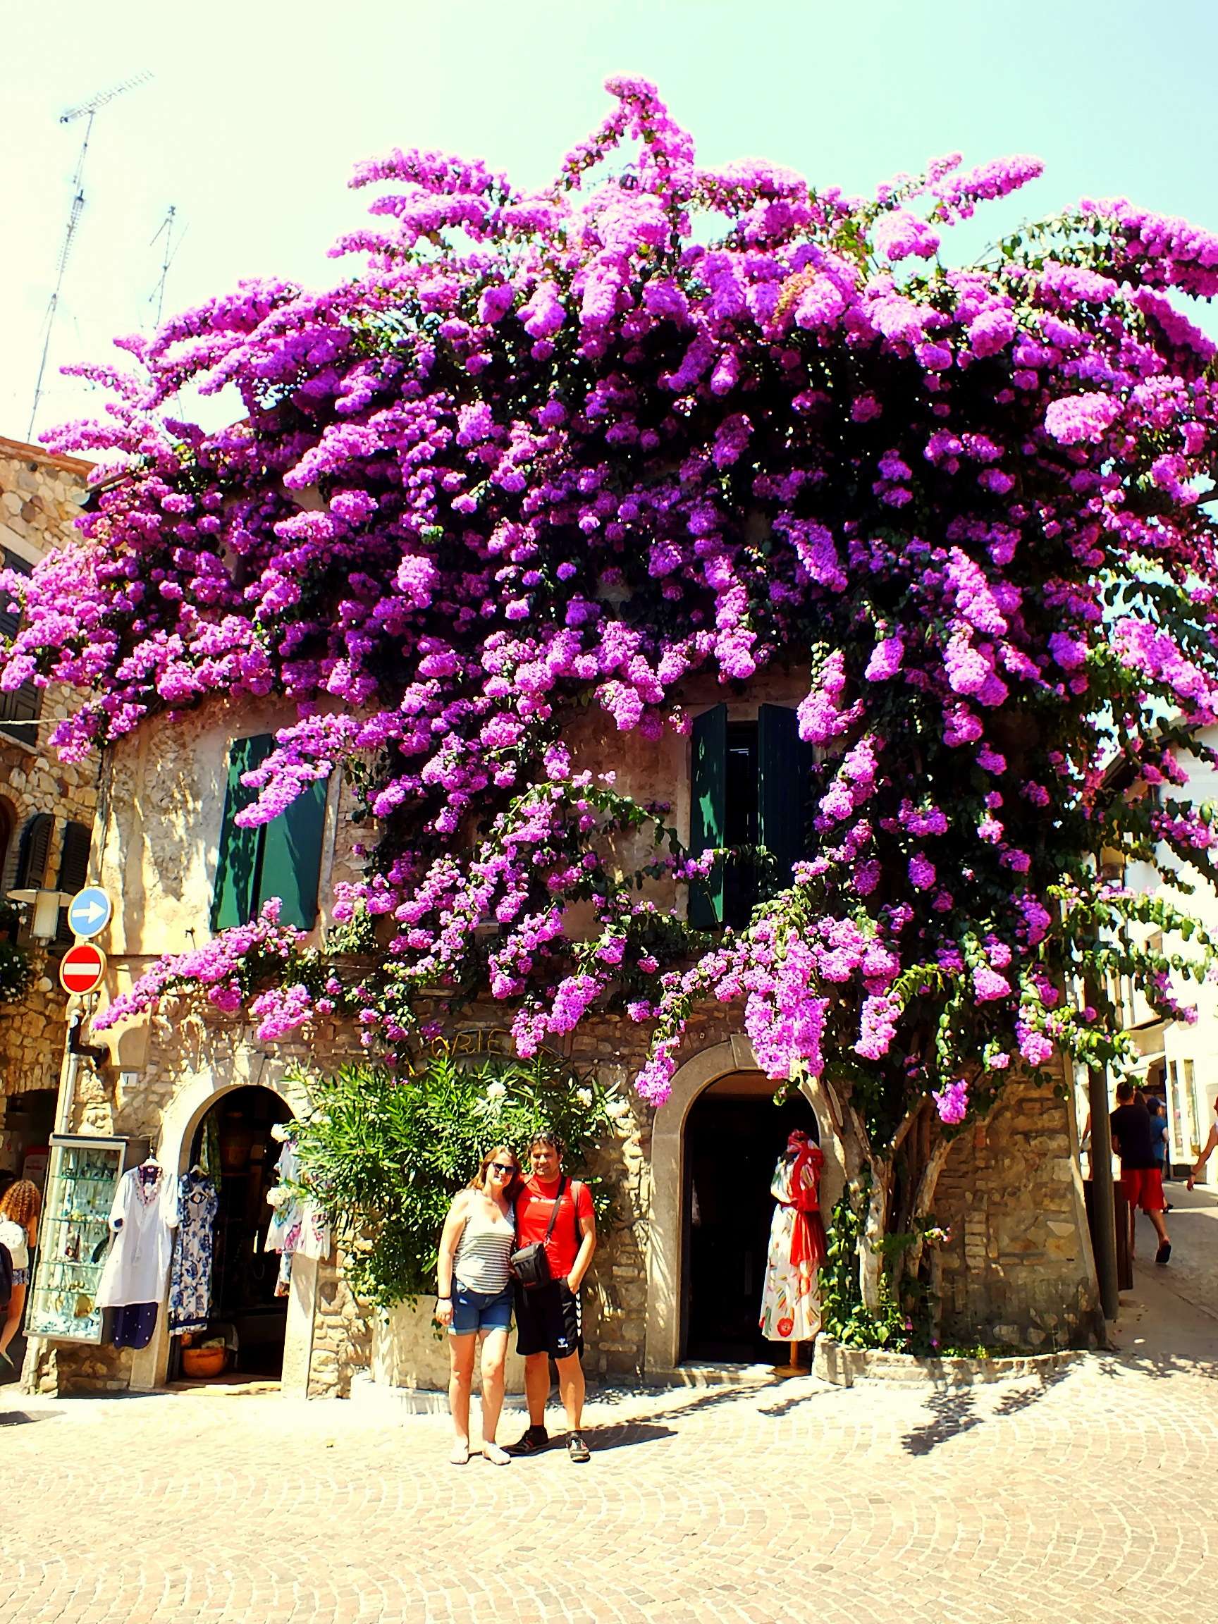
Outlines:
[[[1085,201],[958,268],[950,227],[1036,161],[857,200],[702,169],[650,84],[609,91],[551,187],[393,153],[356,174],[380,190],[336,248],[351,279],[244,284],[120,341],[130,370],[81,369],[109,416],[54,445],[123,477],[8,580],[0,684],[83,690],[65,757],[286,697],[247,822],[354,775],[374,835],[336,913],[365,947],[377,926],[374,968],[323,974],[265,919],[268,1036],[349,1012],[391,1059],[473,989],[529,1056],[620,1000],[663,1103],[695,1005],[739,1002],[869,1169],[874,1296],[953,1125],[1056,1049],[1112,1059],[1109,974],[1171,1012],[1205,961],[1199,935],[1151,948],[1181,921],[1098,856],[1215,872],[1173,791],[1218,718],[1215,346],[1179,305],[1218,291],[1218,239]],[[192,387],[239,395],[227,427],[180,421]],[[778,663],[809,674],[814,846],[747,926],[697,934],[705,856],[567,721],[599,706],[625,750],[689,726],[692,679],[731,697]],[[654,861],[622,867],[624,833]],[[244,944],[106,1018],[192,983],[240,1005]]]

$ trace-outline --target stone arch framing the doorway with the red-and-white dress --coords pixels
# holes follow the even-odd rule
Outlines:
[[[651,1223],[646,1262],[646,1371],[674,1371],[680,1359],[682,1190],[685,1179],[685,1122],[693,1101],[721,1077],[757,1072],[757,1056],[747,1038],[732,1036],[690,1056],[677,1067],[667,1101],[656,1111],[651,1129]],[[822,1207],[828,1212],[841,1195],[846,1173],[841,1142],[833,1129],[820,1083],[801,1085],[820,1127],[825,1151]]]

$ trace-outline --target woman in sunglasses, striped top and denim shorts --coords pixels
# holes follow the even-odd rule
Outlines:
[[[474,1348],[482,1345],[482,1455],[494,1466],[512,1458],[495,1442],[503,1406],[503,1359],[512,1324],[508,1259],[516,1244],[513,1202],[520,1163],[507,1145],[495,1145],[466,1189],[458,1190],[440,1234],[437,1325],[448,1327],[448,1408],[456,1439],[450,1460],[469,1460],[469,1389]]]

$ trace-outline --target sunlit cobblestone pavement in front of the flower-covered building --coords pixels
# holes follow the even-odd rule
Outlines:
[[[442,1416],[378,1405],[3,1389],[0,1621],[1203,1618],[1218,1203],[1173,1218],[1179,1273],[1140,1270],[1116,1353],[963,1392],[603,1395],[580,1468],[453,1468]]]

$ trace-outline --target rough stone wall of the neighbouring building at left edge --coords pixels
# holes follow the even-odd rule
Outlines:
[[[0,438],[0,549],[36,564],[63,544],[80,513],[89,464],[70,456],[52,456],[41,447]],[[63,765],[47,749],[57,721],[75,706],[73,695],[60,687],[42,690],[42,711],[36,728],[15,737],[0,732],[0,810],[8,828],[6,851],[0,853],[3,890],[13,883],[21,830],[39,812],[55,818],[47,861],[47,883],[58,877],[63,828],[68,822],[93,825],[97,801],[97,763]],[[58,984],[58,953],[29,937],[28,926],[18,945],[29,952],[32,981],[16,1004],[0,1005],[0,1168],[15,1171],[23,1145],[5,1143],[5,1101],[29,1090],[58,1086],[63,1056],[67,999]],[[15,1112],[10,1121],[18,1121]]]

